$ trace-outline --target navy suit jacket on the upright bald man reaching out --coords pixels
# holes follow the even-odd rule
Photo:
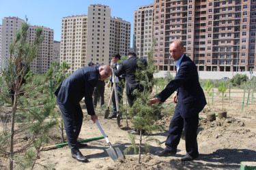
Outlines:
[[[157,98],[164,102],[177,90],[177,106],[181,116],[186,118],[199,114],[206,105],[203,89],[199,84],[197,67],[186,55],[183,56],[175,79],[169,82]]]

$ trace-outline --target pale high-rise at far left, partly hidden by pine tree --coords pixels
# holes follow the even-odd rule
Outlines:
[[[0,38],[1,67],[4,67],[7,60],[10,58],[10,43],[14,40],[16,30],[21,28],[22,22],[25,21],[17,17],[5,17],[2,20]],[[35,39],[35,29],[37,27],[38,26],[33,25],[29,26],[29,37],[27,41],[31,42]],[[44,41],[40,46],[38,56],[36,56],[35,60],[33,60],[30,65],[31,71],[35,73],[46,73],[50,68],[51,61],[53,60],[54,31],[53,29],[43,27],[43,35]]]

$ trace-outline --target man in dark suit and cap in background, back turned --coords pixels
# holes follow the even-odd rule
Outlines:
[[[137,80],[135,71],[139,68],[138,62],[140,61],[143,65],[147,65],[147,60],[143,58],[138,58],[134,52],[129,52],[128,59],[122,62],[119,65],[118,69],[117,66],[111,63],[111,67],[113,67],[113,72],[118,77],[123,73],[126,74],[126,95],[128,99],[129,106],[132,107],[136,96],[132,94],[135,89],[138,89],[140,92],[143,92],[143,86],[140,84],[140,81]],[[137,133],[136,129],[131,131],[130,133]]]

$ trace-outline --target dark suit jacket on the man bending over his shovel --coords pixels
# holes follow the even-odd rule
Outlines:
[[[89,115],[95,115],[92,95],[99,80],[99,69],[96,67],[82,67],[74,71],[63,80],[59,91],[55,90],[57,102],[65,107],[76,107],[85,97],[85,104]]]

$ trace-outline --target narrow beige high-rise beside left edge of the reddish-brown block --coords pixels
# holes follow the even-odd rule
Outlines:
[[[154,32],[154,3],[134,11],[133,49],[140,58],[147,58],[152,49]]]

